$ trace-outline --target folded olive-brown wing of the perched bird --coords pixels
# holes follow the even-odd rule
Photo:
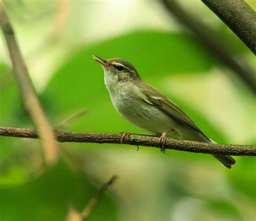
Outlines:
[[[196,126],[196,124],[190,119],[190,117],[185,112],[183,112],[183,110],[181,110],[175,103],[166,98],[166,96],[161,94],[156,88],[153,88],[147,84],[145,85],[143,85],[143,90],[141,91],[142,100],[158,107],[163,112],[171,116],[171,118],[174,118],[179,122],[183,123],[184,125],[187,125],[188,127],[197,130],[197,132],[199,132],[208,139],[208,137]]]

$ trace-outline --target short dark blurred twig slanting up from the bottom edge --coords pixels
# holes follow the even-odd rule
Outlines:
[[[83,211],[81,212],[81,216],[82,218],[85,220],[87,219],[90,215],[91,212],[93,210],[93,208],[95,208],[96,204],[98,203],[100,197],[103,195],[103,193],[106,191],[106,189],[112,185],[112,183],[114,181],[116,181],[117,176],[113,175],[109,181],[107,181],[106,183],[104,183],[98,190],[98,192],[95,194],[95,196],[93,196],[90,201],[87,203],[87,205],[85,206],[85,208],[83,209]]]

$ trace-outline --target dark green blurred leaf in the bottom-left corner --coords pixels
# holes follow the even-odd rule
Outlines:
[[[84,174],[71,171],[60,161],[34,181],[20,187],[1,190],[2,220],[65,220],[69,206],[82,211],[97,192]],[[113,203],[106,196],[100,199],[92,220],[116,220]]]

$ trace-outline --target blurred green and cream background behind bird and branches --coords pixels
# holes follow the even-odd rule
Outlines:
[[[121,57],[218,143],[255,144],[255,97],[160,1],[5,0],[39,99],[66,130],[145,133],[114,110],[92,59]],[[200,1],[178,1],[252,68],[255,57]],[[254,1],[247,1],[256,8]],[[0,33],[0,125],[32,128]],[[89,220],[255,220],[256,161],[228,170],[210,155],[118,144],[59,143],[46,168],[38,140],[0,137],[0,220],[65,220],[113,174]]]

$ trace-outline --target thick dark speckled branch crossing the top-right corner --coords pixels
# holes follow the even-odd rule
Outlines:
[[[201,0],[256,55],[256,13],[244,0]]]

